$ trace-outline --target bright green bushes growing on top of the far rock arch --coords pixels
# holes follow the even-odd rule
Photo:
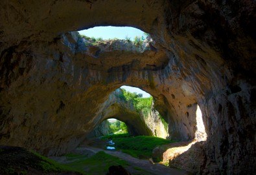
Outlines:
[[[152,96],[149,98],[142,98],[142,94],[137,94],[135,92],[132,93],[126,91],[123,88],[121,88],[121,90],[122,94],[117,96],[119,96],[119,98],[123,99],[124,101],[132,101],[137,112],[142,112],[143,114],[150,112],[153,102]]]

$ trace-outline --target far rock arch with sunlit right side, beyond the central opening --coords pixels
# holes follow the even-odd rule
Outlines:
[[[87,135],[87,138],[110,134],[109,124],[105,122],[109,118],[126,123],[128,133],[133,136],[168,137],[167,126],[161,121],[159,113],[154,108],[154,103],[152,103],[151,110],[142,112],[135,109],[132,101],[126,101],[121,97],[121,88],[110,94],[108,100],[104,102],[104,109],[96,118],[95,129]]]

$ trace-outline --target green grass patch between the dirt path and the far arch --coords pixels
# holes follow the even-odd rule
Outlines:
[[[170,139],[157,138],[153,136],[131,136],[129,134],[113,134],[104,136],[102,139],[112,139],[117,150],[122,150],[134,158],[152,158],[152,150],[157,146],[173,143]]]

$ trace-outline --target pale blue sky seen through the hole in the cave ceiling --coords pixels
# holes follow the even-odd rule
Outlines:
[[[102,39],[125,39],[126,36],[132,40],[135,36],[143,36],[144,32],[130,26],[95,26],[87,30],[78,31],[80,34],[88,37],[102,37]]]

